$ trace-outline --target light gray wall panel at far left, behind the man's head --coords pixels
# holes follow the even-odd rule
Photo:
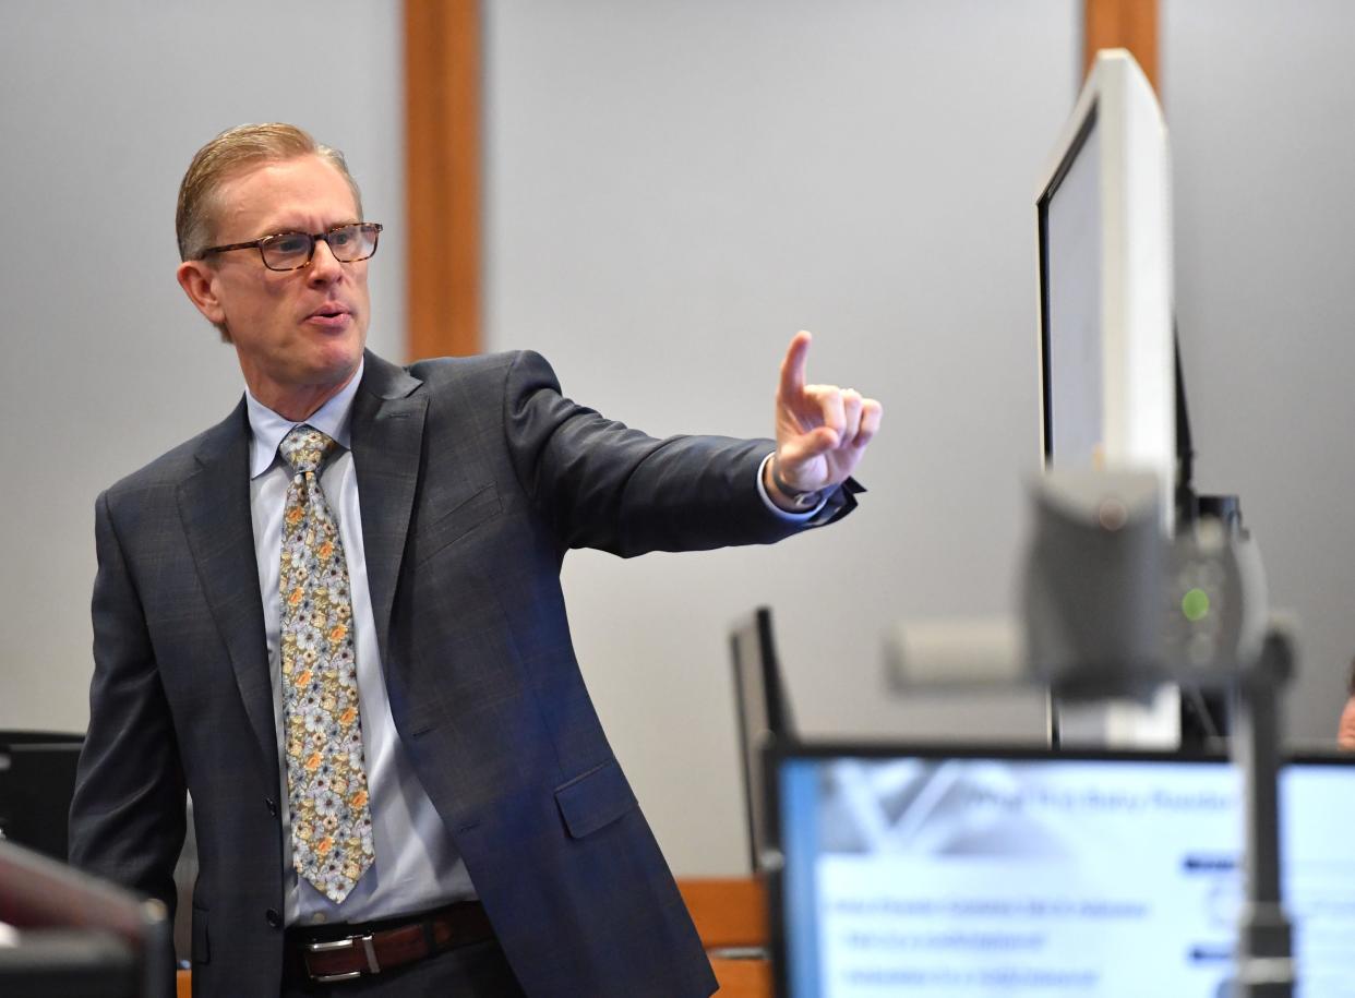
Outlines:
[[[294,121],[404,213],[400,7],[8,0],[0,11],[0,727],[84,730],[93,501],[221,420],[234,351],[175,283],[192,153]],[[404,344],[404,251],[371,267],[373,345]]]

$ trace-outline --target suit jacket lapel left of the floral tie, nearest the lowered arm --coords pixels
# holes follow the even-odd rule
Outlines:
[[[203,594],[230,655],[264,776],[276,780],[278,731],[249,516],[249,420],[244,399],[207,433],[196,459],[198,473],[179,486],[179,516]]]

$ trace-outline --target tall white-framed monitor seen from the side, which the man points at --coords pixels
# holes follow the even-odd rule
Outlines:
[[[1152,84],[1096,56],[1037,196],[1041,439],[1047,467],[1176,478],[1171,177]]]

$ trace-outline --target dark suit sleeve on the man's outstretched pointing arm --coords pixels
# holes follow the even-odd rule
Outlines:
[[[771,440],[657,440],[565,398],[550,364],[530,351],[509,367],[504,406],[518,478],[569,547],[631,557],[766,544],[805,527],[757,494]],[[809,525],[848,512],[858,487],[839,489]]]

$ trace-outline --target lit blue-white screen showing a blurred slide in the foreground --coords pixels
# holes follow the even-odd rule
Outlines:
[[[1221,757],[780,746],[783,998],[1230,994],[1243,781]],[[1299,998],[1355,979],[1355,760],[1280,777]]]

